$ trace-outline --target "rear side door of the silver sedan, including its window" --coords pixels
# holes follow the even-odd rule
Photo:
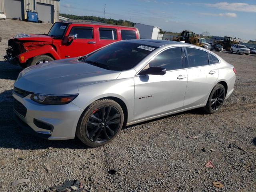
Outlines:
[[[204,50],[186,47],[185,52],[187,58],[188,85],[184,107],[189,108],[203,104],[208,98],[217,81],[218,68],[211,59],[209,62],[208,52]]]

